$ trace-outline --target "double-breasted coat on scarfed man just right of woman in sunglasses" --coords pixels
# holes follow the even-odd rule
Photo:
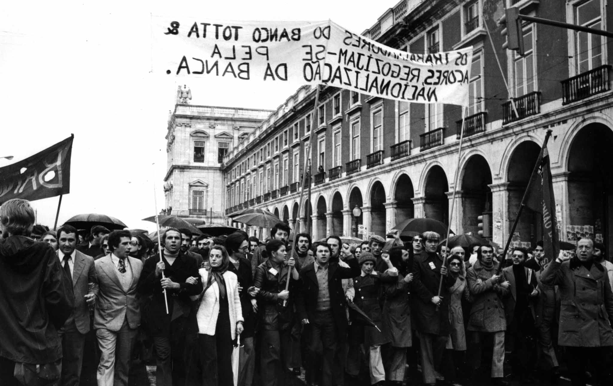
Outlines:
[[[493,283],[490,278],[496,274],[498,263],[493,262],[491,269],[486,269],[481,261],[476,261],[466,273],[468,288],[473,295],[473,305],[470,308],[468,331],[498,332],[506,331],[503,297],[509,294],[509,289]]]

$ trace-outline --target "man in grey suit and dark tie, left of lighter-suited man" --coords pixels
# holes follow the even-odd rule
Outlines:
[[[58,258],[64,273],[70,278],[74,294],[72,313],[58,331],[62,340],[60,384],[63,386],[79,384],[85,334],[89,332],[89,306],[94,305],[98,294],[94,259],[75,249],[77,240],[77,229],[74,227],[64,225],[58,229]]]

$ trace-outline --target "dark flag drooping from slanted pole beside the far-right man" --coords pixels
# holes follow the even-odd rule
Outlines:
[[[525,205],[543,215],[543,249],[545,256],[551,261],[558,257],[560,240],[547,143],[541,148],[536,165],[538,168],[535,168],[530,177],[530,191],[527,192]]]

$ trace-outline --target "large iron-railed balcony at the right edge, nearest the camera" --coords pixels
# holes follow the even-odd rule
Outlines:
[[[610,72],[611,65],[606,64],[561,81],[562,104],[566,105],[611,90]]]

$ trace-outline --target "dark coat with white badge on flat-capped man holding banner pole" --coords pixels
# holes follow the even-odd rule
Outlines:
[[[413,260],[413,306],[417,331],[434,335],[449,335],[449,287],[455,279],[447,275],[441,288],[440,306],[431,300],[438,294],[443,260],[436,253],[422,253]]]

